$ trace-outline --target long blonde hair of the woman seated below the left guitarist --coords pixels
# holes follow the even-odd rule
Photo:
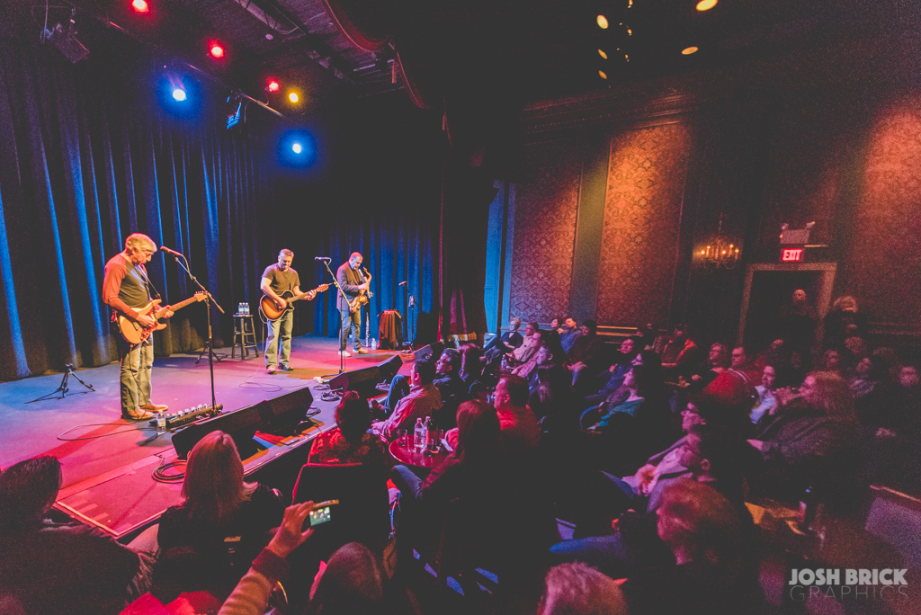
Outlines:
[[[250,499],[257,484],[243,482],[243,461],[233,438],[224,432],[205,435],[189,453],[182,497],[189,516],[224,523]]]

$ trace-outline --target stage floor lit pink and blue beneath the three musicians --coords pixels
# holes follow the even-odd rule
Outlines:
[[[247,474],[260,470],[275,458],[306,446],[316,435],[335,426],[335,401],[321,400],[316,377],[334,376],[339,370],[338,342],[331,338],[296,337],[291,344],[290,372],[265,373],[262,356],[245,359],[226,354],[215,361],[215,393],[223,412],[232,412],[309,387],[316,426],[302,435],[282,440],[259,440],[259,451],[245,459]],[[260,353],[262,354],[262,352]],[[344,359],[351,371],[375,366],[393,352],[371,351]],[[412,355],[410,355],[410,358]],[[211,401],[208,361],[205,355],[173,354],[154,361],[153,400],[168,404],[175,412]],[[401,373],[407,373],[404,365]],[[166,506],[180,502],[181,484],[156,482],[153,470],[176,458],[171,435],[157,436],[145,423],[128,423],[121,418],[119,365],[80,369],[76,372],[94,391],[70,377],[67,396],[29,402],[51,393],[61,384],[62,374],[30,377],[0,383],[0,421],[3,447],[0,468],[23,459],[52,455],[61,460],[64,488],[55,505],[71,516],[82,518],[115,536],[124,536],[155,518]],[[159,512],[157,512],[159,511]]]

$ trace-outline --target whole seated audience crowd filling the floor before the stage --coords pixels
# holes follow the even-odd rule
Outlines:
[[[349,543],[321,564],[309,601],[314,570],[297,570],[295,550],[316,551],[322,539],[310,542],[304,527],[312,503],[285,509],[267,486],[244,482],[229,435],[205,435],[189,454],[183,501],[160,518],[153,568],[152,556],[98,530],[44,518],[60,464],[29,459],[0,474],[0,609],[114,614],[140,596],[124,615],[259,615],[281,582],[303,587],[290,612],[419,613],[405,571],[445,557],[444,532],[463,519],[464,546],[506,564],[500,590],[539,584],[548,558],[565,562],[545,574],[540,615],[761,612],[746,500],[795,506],[808,489],[834,510],[861,505],[858,488],[870,481],[911,490],[921,480],[916,366],[870,347],[853,297],[825,318],[821,347],[815,325],[797,290],[776,322],[759,323],[779,336],[757,360],[759,348],[730,353],[701,340],[712,342],[701,361],[683,324],[655,343],[647,325],[607,354],[614,346],[593,320],[577,328],[553,319],[546,331],[530,322],[522,337],[511,319],[485,349],[449,348],[394,377],[385,403],[372,402],[376,423],[367,400],[345,391],[309,461],[376,466],[382,482],[392,466],[398,574],[389,578],[381,553]],[[496,383],[492,367],[504,356],[515,368]],[[810,371],[813,359],[821,371]],[[666,387],[664,375],[679,386]],[[393,466],[385,440],[427,416],[441,427],[456,420],[448,457],[427,473]],[[554,512],[574,522],[572,540],[556,536]],[[458,581],[465,594],[475,587]]]

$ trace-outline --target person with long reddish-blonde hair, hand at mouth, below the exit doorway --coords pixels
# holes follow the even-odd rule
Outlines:
[[[758,425],[748,442],[758,451],[757,484],[764,495],[787,502],[812,485],[822,497],[842,497],[847,463],[857,442],[854,399],[845,380],[831,372],[813,372],[799,394],[778,389],[777,409]]]

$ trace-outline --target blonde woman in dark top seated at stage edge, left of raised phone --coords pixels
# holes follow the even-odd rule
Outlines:
[[[220,431],[192,447],[182,497],[160,517],[160,550],[191,547],[227,582],[228,592],[265,546],[285,506],[265,485],[243,482],[237,446]]]

